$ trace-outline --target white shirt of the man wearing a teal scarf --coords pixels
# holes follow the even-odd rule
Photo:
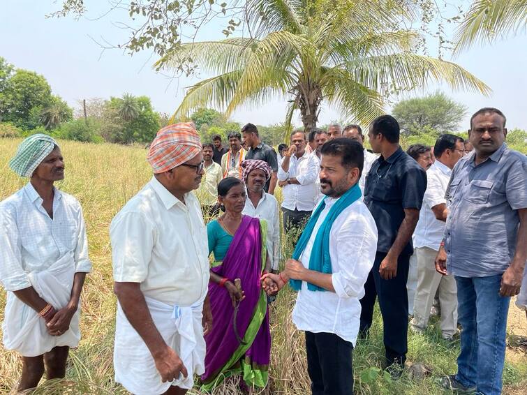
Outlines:
[[[325,202],[326,207],[300,257],[304,267],[309,267],[318,229],[336,200],[327,198]],[[350,204],[335,218],[329,234],[329,257],[336,292],[310,291],[302,281],[292,311],[292,320],[299,330],[336,334],[355,345],[360,322],[359,300],[364,296],[364,283],[373,267],[377,239],[375,221],[362,200]]]

